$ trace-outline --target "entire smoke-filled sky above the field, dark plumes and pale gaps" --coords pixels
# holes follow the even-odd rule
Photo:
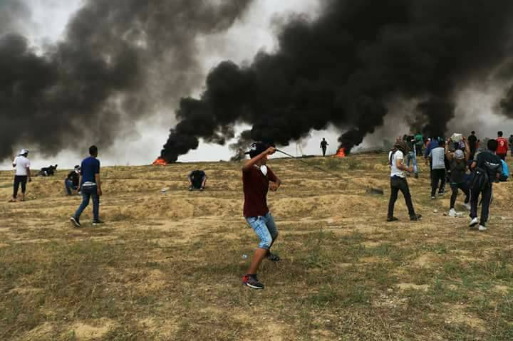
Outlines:
[[[95,143],[105,164],[145,164],[170,127],[169,161],[374,146],[407,122],[513,130],[512,4],[380,2],[0,1],[0,159],[72,167]]]

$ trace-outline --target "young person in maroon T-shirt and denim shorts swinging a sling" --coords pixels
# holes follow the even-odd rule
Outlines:
[[[242,284],[253,289],[263,289],[264,285],[257,278],[257,271],[264,258],[277,262],[279,257],[270,249],[278,237],[278,229],[267,207],[267,192],[276,192],[281,181],[267,167],[267,157],[276,152],[276,148],[255,142],[251,146],[249,161],[242,167],[242,186],[244,189],[244,218],[260,239],[257,250],[247,270],[242,276]]]

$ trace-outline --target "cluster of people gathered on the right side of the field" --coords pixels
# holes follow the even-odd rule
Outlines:
[[[477,226],[479,231],[487,230],[493,183],[507,181],[509,177],[505,159],[508,149],[513,156],[513,135],[509,140],[502,136],[502,132],[497,132],[497,139],[488,140],[485,150],[479,149],[480,140],[477,139],[475,132],[471,132],[468,138],[455,134],[447,141],[436,137],[425,142],[424,156],[426,164],[430,166],[431,199],[435,200],[436,194],[443,196],[445,184],[449,182],[452,194],[448,215],[457,216],[455,203],[458,192],[462,191],[465,194],[463,206],[470,211],[470,227]],[[417,146],[418,140],[415,137],[405,135],[398,138],[389,153],[391,191],[387,221],[398,220],[393,215],[398,192],[402,192],[405,197],[410,219],[420,219],[420,215],[415,214],[406,181],[406,177],[411,172],[415,172],[415,177],[418,177]],[[406,164],[405,155],[408,159]],[[414,161],[413,167],[410,167],[410,160]],[[477,219],[480,197],[482,211],[480,219]]]

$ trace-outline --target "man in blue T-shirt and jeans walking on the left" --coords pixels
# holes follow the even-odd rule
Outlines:
[[[93,199],[93,225],[103,224],[100,220],[100,196],[101,180],[100,180],[100,160],[98,157],[98,147],[89,147],[90,157],[83,159],[81,164],[81,175],[78,181],[79,192],[82,192],[82,203],[78,207],[75,214],[70,218],[75,227],[81,227],[80,216],[89,204],[89,200]]]

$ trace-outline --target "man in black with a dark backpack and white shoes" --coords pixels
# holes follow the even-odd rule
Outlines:
[[[472,162],[471,169],[474,171],[470,181],[470,227],[473,228],[479,224],[479,231],[486,231],[488,221],[489,206],[492,202],[492,186],[495,180],[498,180],[502,172],[502,162],[495,154],[497,151],[497,140],[489,140],[488,150],[477,154]],[[482,209],[481,220],[477,219],[477,203],[481,194]]]

